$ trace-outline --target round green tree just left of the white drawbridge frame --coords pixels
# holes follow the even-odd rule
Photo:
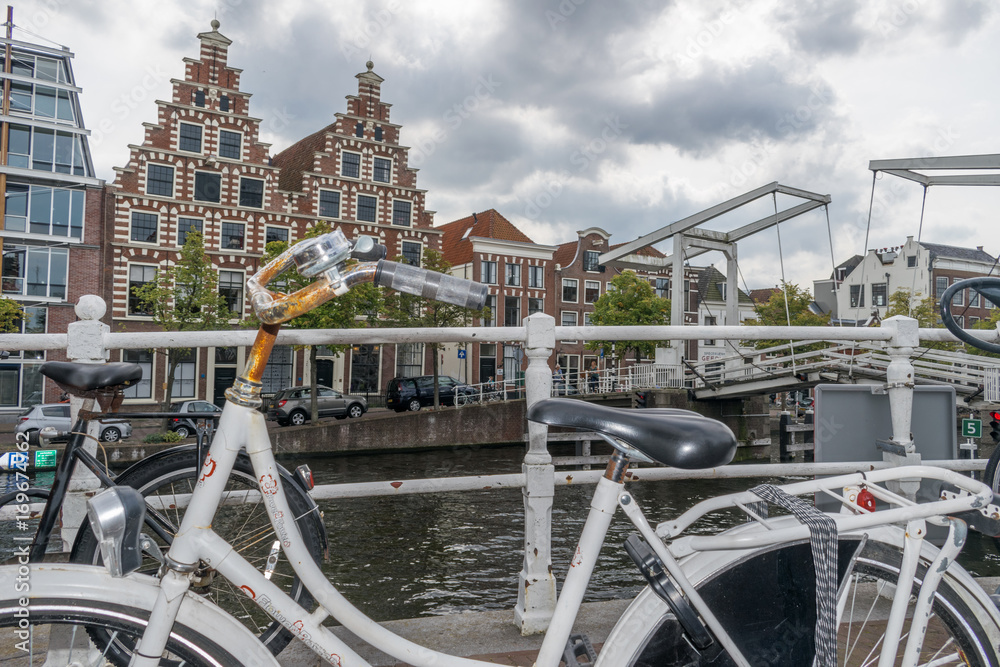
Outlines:
[[[594,303],[590,321],[599,327],[658,326],[670,324],[670,299],[656,296],[652,286],[632,271],[618,274],[608,283],[607,291]],[[641,355],[652,356],[657,341],[620,340],[621,356],[635,352],[638,362]],[[594,340],[586,344],[589,350],[610,350],[612,341]]]

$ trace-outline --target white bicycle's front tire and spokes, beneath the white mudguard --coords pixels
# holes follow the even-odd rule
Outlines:
[[[23,614],[24,610],[27,614]],[[148,610],[73,598],[0,601],[0,664],[4,667],[125,667],[142,636]],[[210,631],[210,628],[203,628]],[[59,649],[56,649],[58,645]],[[51,650],[50,650],[51,649]],[[228,667],[231,653],[202,632],[177,622],[161,664]]]

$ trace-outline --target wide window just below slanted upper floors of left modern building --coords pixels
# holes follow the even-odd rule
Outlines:
[[[82,190],[7,184],[4,228],[47,236],[83,237]]]

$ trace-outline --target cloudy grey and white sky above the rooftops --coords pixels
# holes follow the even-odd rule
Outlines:
[[[12,2],[15,24],[76,54],[108,180],[217,17],[275,153],[345,111],[371,57],[438,224],[496,208],[538,243],[593,226],[619,243],[778,181],[832,196],[837,263],[866,232],[868,248],[919,234],[1000,252],[997,188],[930,189],[921,232],[920,186],[880,177],[868,225],[869,160],[1000,153],[990,0]],[[783,259],[811,287],[828,238],[819,209],[782,224],[780,257],[773,228],[748,239],[746,284],[776,284]]]

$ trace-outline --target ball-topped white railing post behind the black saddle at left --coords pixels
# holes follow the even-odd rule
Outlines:
[[[80,297],[74,308],[78,322],[72,322],[66,327],[66,358],[85,364],[103,364],[108,359],[108,351],[104,347],[104,334],[111,328],[100,320],[107,312],[104,299],[93,294]],[[94,399],[70,396],[70,419],[76,423],[76,416],[81,409],[92,410]],[[87,438],[84,449],[91,454],[97,453],[97,440],[100,437],[101,425],[96,421],[87,427]],[[100,487],[98,479],[84,466],[76,466],[70,481],[69,492],[62,507],[62,550],[67,552],[73,546],[77,530],[87,520],[87,498],[93,495],[94,489]]]

